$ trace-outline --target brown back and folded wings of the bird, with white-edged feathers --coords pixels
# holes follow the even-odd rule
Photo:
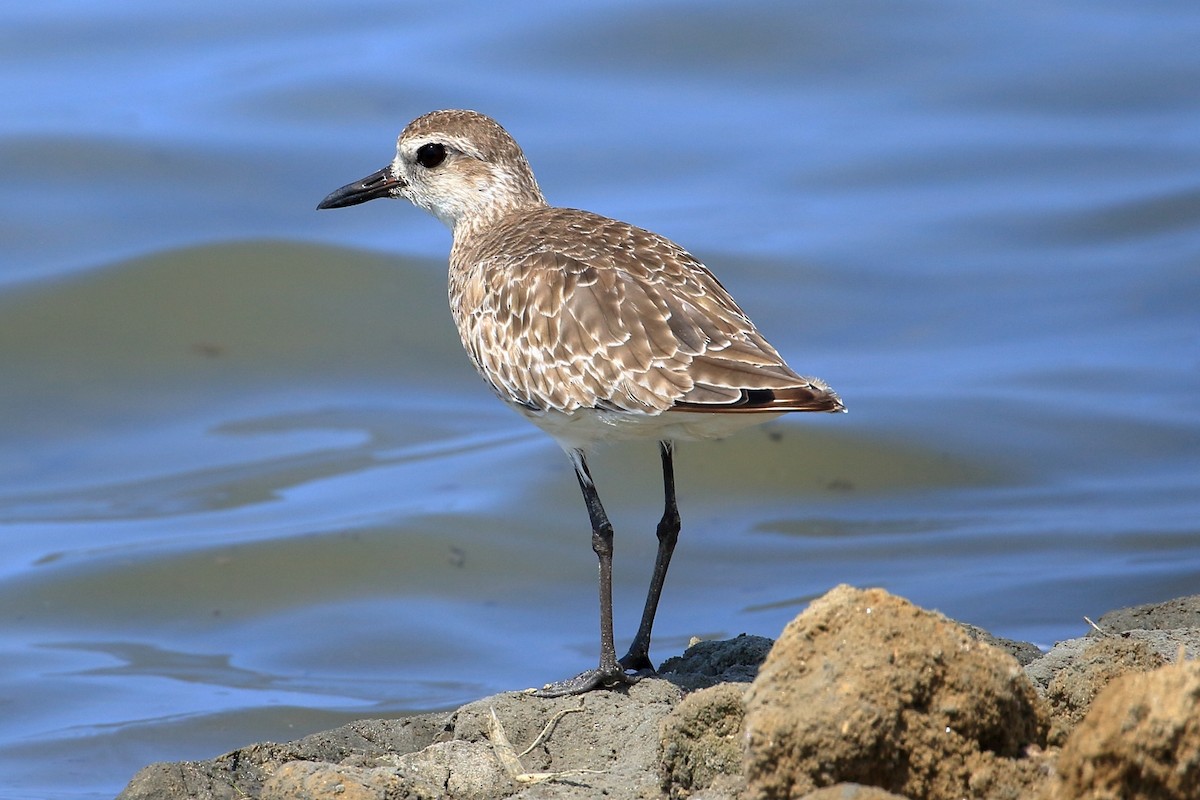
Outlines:
[[[475,367],[529,411],[842,410],[691,254],[587,211],[532,205],[456,233],[450,305]]]

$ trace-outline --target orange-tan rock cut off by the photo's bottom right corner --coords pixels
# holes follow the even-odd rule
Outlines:
[[[1200,663],[1109,684],[1058,757],[1048,800],[1195,800],[1200,793]]]

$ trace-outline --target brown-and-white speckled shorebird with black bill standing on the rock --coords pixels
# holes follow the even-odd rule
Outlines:
[[[649,230],[546,201],[529,162],[476,112],[425,114],[383,169],[318,209],[406,199],[449,225],[450,312],[492,391],[552,435],[575,468],[600,561],[600,663],[544,697],[631,684],[653,672],[650,632],[679,536],[674,441],[714,439],[787,411],[844,411],[822,380],[793,372],[716,277]],[[642,621],[617,658],[613,530],[587,453],[652,439],[664,511]]]

